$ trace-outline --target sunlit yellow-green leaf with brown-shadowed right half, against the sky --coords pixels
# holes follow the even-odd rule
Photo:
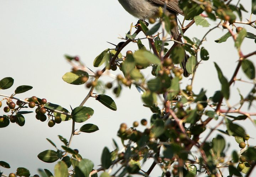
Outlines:
[[[84,77],[88,78],[88,73],[83,70],[77,70],[65,73],[62,79],[68,84],[81,85],[85,83]]]

